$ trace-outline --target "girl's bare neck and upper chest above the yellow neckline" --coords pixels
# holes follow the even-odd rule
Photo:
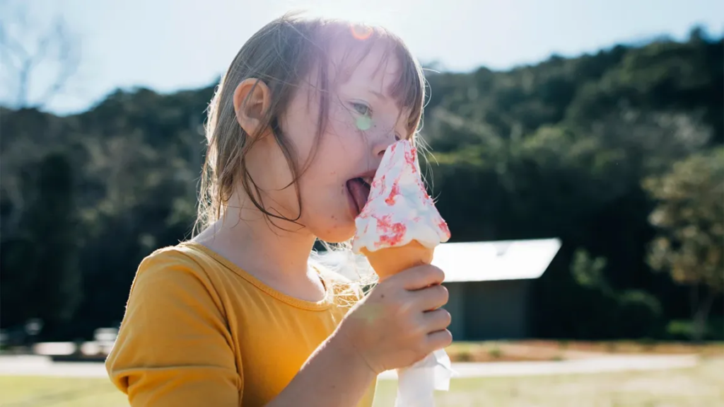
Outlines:
[[[274,219],[274,227],[258,211],[230,207],[193,240],[252,274],[275,290],[307,301],[324,298],[324,286],[308,267],[313,235],[299,225]]]

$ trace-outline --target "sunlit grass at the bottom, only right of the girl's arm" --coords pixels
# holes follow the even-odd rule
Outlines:
[[[541,377],[454,379],[437,406],[724,406],[724,359],[692,369]],[[395,382],[379,383],[379,403],[392,406]]]

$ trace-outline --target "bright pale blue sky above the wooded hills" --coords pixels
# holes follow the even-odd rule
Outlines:
[[[292,9],[383,25],[421,62],[452,71],[505,70],[658,35],[683,39],[695,25],[724,34],[721,0],[1,0],[0,39],[37,54],[52,22],[64,21],[72,51],[64,55],[76,63],[46,53],[28,98],[71,114],[117,88],[169,93],[217,82],[247,38]],[[19,61],[1,55],[0,104],[17,103]],[[76,69],[62,91],[47,92],[61,66]]]

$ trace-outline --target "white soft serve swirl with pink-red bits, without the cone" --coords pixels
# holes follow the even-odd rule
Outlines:
[[[384,152],[355,226],[355,253],[401,247],[413,240],[432,249],[450,238],[447,223],[425,190],[417,151],[409,140],[397,141]]]

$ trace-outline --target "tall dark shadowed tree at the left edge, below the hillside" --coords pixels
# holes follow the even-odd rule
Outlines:
[[[25,174],[22,233],[2,253],[3,323],[39,318],[53,329],[70,321],[83,296],[73,169],[54,153]]]

